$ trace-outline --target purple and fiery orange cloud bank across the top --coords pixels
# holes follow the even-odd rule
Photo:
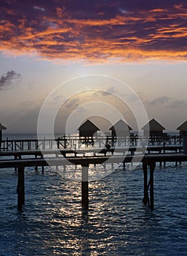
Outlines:
[[[1,1],[0,50],[68,61],[187,57],[187,3]]]

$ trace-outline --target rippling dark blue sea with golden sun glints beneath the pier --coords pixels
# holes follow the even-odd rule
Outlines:
[[[142,202],[140,165],[106,168],[108,175],[89,182],[87,212],[81,182],[51,167],[25,169],[25,206],[17,212],[17,172],[1,169],[0,255],[186,256],[187,163],[156,166],[154,211]]]

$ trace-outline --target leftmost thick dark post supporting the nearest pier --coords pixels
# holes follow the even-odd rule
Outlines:
[[[25,204],[25,177],[24,166],[18,167],[18,181],[17,181],[17,211],[23,211]]]

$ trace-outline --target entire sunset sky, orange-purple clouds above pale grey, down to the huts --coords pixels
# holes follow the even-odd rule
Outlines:
[[[36,132],[43,109],[62,133],[93,116],[170,131],[187,120],[186,1],[1,0],[0,17],[7,132]]]

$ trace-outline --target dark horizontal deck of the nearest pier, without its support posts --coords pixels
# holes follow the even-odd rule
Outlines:
[[[50,151],[50,154],[52,152]],[[42,157],[30,159],[3,159],[0,160],[0,168],[19,167],[19,166],[47,166],[47,165],[97,165],[103,162],[122,163],[122,162],[146,162],[147,165],[155,162],[187,162],[187,154],[138,154],[120,156],[93,156],[93,157]]]

